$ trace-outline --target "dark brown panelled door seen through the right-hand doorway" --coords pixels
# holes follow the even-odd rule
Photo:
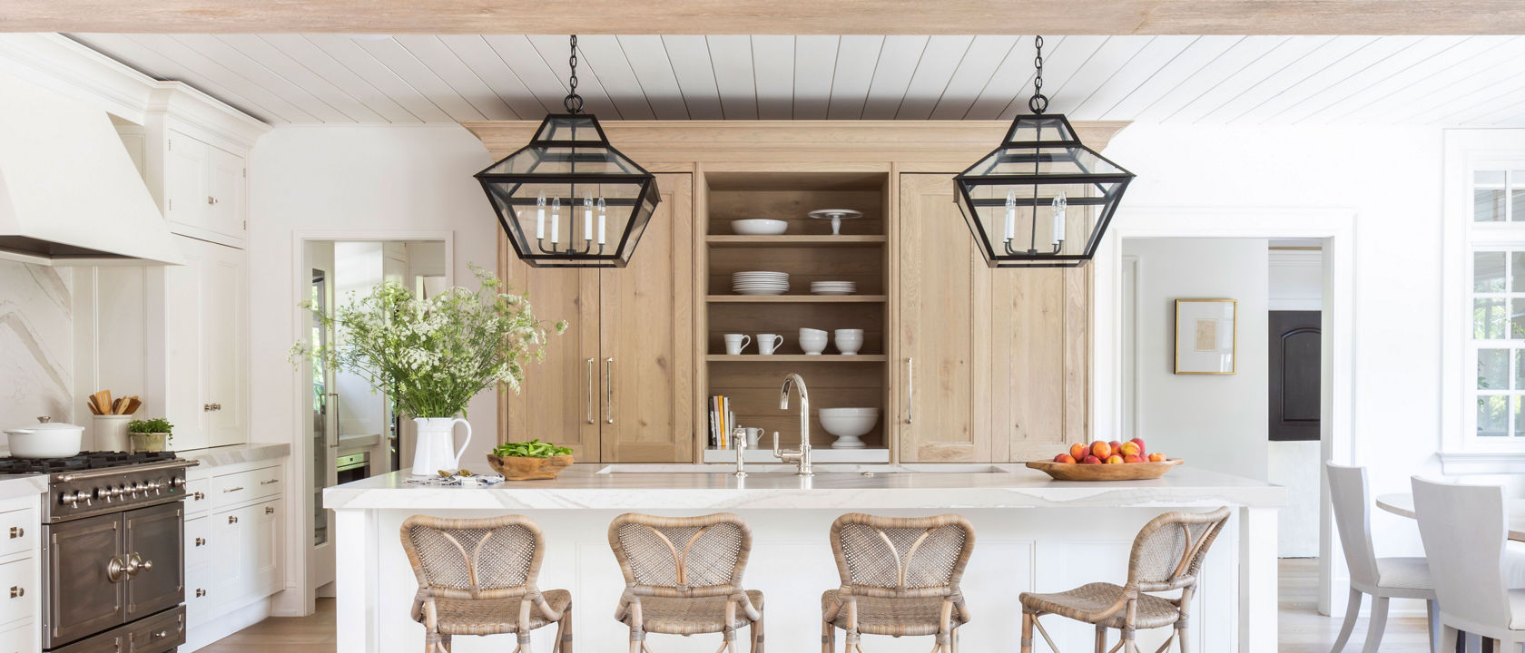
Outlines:
[[[1321,314],[1270,311],[1270,438],[1319,438]]]

